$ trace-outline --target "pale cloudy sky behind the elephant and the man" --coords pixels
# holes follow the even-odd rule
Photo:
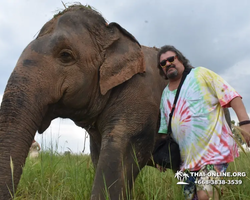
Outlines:
[[[63,1],[66,6],[75,1]],[[117,22],[140,44],[174,45],[194,67],[224,78],[243,97],[250,113],[249,0],[86,0],[110,22]],[[42,26],[63,10],[61,0],[7,0],[0,5],[0,100],[24,48]],[[238,121],[232,109],[231,117]],[[250,116],[250,115],[249,115]],[[55,119],[35,139],[43,149],[89,153],[86,130]],[[86,142],[84,143],[86,138]],[[84,145],[85,144],[85,145]]]

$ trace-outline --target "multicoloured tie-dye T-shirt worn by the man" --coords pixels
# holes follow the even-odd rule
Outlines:
[[[177,90],[164,89],[159,133],[167,133],[169,113]],[[181,170],[232,162],[239,156],[223,107],[240,96],[216,73],[197,67],[187,75],[172,117],[173,138],[181,149]]]

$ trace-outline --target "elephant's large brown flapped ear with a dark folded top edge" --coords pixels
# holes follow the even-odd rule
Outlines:
[[[100,67],[102,95],[135,74],[145,72],[141,46],[134,36],[116,23],[110,23],[108,28],[111,36],[105,47],[105,60]]]

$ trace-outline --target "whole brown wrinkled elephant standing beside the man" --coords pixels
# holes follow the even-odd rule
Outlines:
[[[91,199],[105,199],[105,188],[110,199],[126,199],[157,135],[167,82],[156,54],[82,6],[46,23],[21,54],[3,96],[0,200],[10,199],[8,188],[13,192],[10,157],[16,188],[36,131],[44,132],[57,117],[70,118],[90,134],[96,170]]]

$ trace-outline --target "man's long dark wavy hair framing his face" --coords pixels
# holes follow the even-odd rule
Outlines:
[[[167,51],[172,51],[176,54],[178,60],[184,65],[185,68],[193,68],[193,66],[190,64],[189,60],[174,46],[171,45],[165,45],[160,48],[157,54],[157,67],[160,70],[160,75],[162,75],[165,79],[168,79],[166,74],[164,73],[162,67],[160,66],[160,57],[163,53],[166,53]]]

